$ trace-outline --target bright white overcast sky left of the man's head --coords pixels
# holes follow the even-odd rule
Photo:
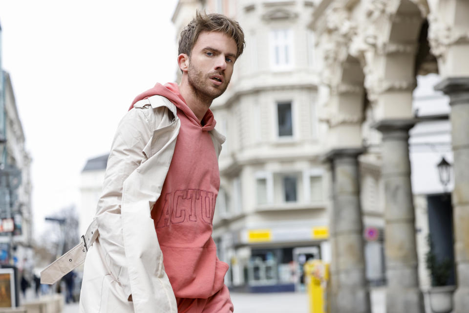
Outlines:
[[[77,203],[86,160],[109,151],[133,98],[175,79],[176,2],[0,0],[2,66],[33,158],[36,234],[44,216]]]

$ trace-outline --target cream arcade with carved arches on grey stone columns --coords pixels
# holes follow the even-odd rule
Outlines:
[[[333,312],[370,312],[366,203],[358,201],[366,193],[364,164],[375,165],[381,185],[386,312],[424,312],[425,232],[439,246],[432,253],[454,264],[456,279],[446,280],[457,287],[454,312],[467,311],[468,14],[460,0],[323,0],[313,13],[333,173]],[[445,187],[435,168],[443,156],[454,173]]]

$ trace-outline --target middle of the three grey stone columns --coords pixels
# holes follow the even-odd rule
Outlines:
[[[383,134],[384,245],[386,312],[423,313],[410,183],[409,130],[415,121],[383,120],[374,127]]]

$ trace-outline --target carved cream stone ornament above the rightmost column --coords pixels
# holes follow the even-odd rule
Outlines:
[[[469,43],[469,33],[456,29],[443,22],[435,13],[428,15],[428,42],[430,50],[436,57],[445,57],[450,45]]]

